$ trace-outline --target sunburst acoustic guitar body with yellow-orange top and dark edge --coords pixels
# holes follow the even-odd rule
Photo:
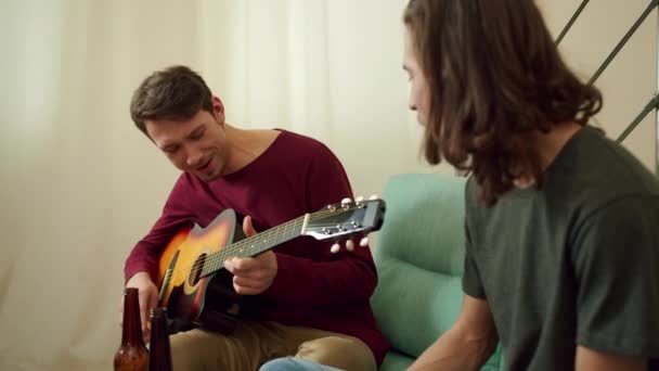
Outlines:
[[[171,239],[158,264],[161,306],[170,318],[219,333],[233,331],[241,296],[233,290],[232,274],[220,269],[202,277],[201,269],[210,254],[242,238],[235,213],[227,209],[206,228],[184,228]]]

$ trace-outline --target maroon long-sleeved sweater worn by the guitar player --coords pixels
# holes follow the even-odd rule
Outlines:
[[[129,279],[146,271],[155,280],[157,261],[171,236],[183,226],[206,227],[227,208],[251,216],[257,231],[276,227],[306,213],[352,197],[344,167],[324,144],[282,131],[266,152],[241,170],[204,182],[182,174],[151,232],[126,260]],[[367,248],[341,248],[301,236],[275,247],[277,274],[258,295],[260,320],[339,332],[361,338],[378,362],[388,344],[375,324],[370,297],[377,284]]]

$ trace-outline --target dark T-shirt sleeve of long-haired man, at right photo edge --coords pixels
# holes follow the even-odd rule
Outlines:
[[[577,344],[659,356],[658,226],[657,197],[618,200],[577,226]]]

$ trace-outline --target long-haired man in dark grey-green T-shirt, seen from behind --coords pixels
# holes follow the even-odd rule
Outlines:
[[[411,370],[646,370],[659,357],[659,183],[589,125],[599,91],[531,0],[411,0],[425,156],[470,174],[465,292]]]

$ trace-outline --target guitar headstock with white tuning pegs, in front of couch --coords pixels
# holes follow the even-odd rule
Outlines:
[[[377,196],[371,196],[370,200],[357,197],[354,201],[344,199],[340,203],[330,204],[309,214],[301,234],[311,235],[316,240],[348,239],[346,248],[352,251],[354,243],[349,239],[359,233],[365,235],[378,230],[383,226],[385,209],[385,201]],[[366,238],[360,241],[362,247],[367,244]],[[332,253],[337,253],[338,250],[338,243],[335,243]]]

